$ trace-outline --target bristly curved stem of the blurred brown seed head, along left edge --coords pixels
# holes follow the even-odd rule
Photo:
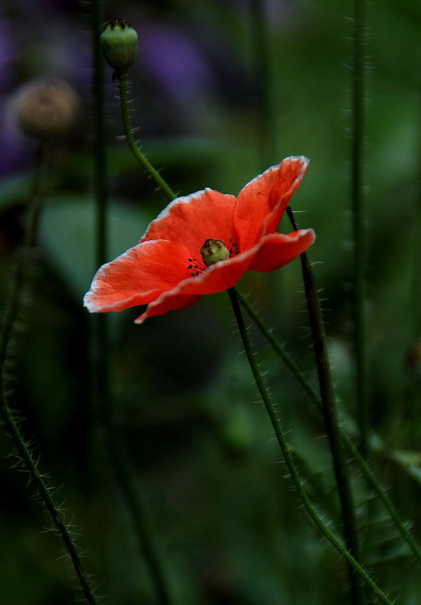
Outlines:
[[[57,529],[62,541],[65,543],[65,547],[69,554],[69,557],[74,566],[77,578],[81,585],[81,590],[86,597],[89,604],[95,605],[95,597],[91,590],[91,585],[83,571],[81,560],[74,544],[72,537],[67,529],[65,523],[65,517],[60,510],[60,507],[55,503],[52,495],[52,487],[47,485],[45,481],[45,475],[41,474],[38,469],[38,462],[32,457],[32,453],[28,442],[23,438],[18,423],[13,417],[13,414],[8,407],[6,401],[6,395],[4,392],[4,363],[6,359],[6,351],[8,341],[13,330],[15,323],[15,317],[18,312],[20,304],[20,296],[22,294],[22,288],[25,285],[25,279],[29,266],[29,254],[32,246],[32,240],[34,238],[36,216],[41,202],[41,189],[42,181],[44,178],[44,147],[39,143],[39,147],[36,151],[36,167],[34,171],[34,181],[32,183],[32,190],[29,193],[29,209],[27,214],[27,226],[25,228],[25,236],[20,250],[20,256],[15,266],[15,273],[13,275],[13,285],[11,290],[11,297],[8,302],[8,308],[4,318],[4,324],[0,335],[0,388],[1,388],[1,417],[6,424],[8,434],[11,436],[13,444],[15,446],[15,455],[18,458],[17,467],[25,469],[29,473],[29,477],[36,486],[36,491],[41,497],[42,502],[46,507],[46,510],[51,516],[53,525]]]

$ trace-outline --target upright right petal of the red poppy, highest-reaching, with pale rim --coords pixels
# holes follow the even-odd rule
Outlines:
[[[241,189],[234,211],[241,251],[253,247],[262,235],[274,232],[308,167],[304,155],[286,157]]]

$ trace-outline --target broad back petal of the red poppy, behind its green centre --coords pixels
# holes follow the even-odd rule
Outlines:
[[[199,256],[203,243],[209,238],[228,242],[234,235],[232,214],[234,195],[204,189],[187,197],[178,197],[150,223],[141,242],[172,240],[180,242],[190,256]]]

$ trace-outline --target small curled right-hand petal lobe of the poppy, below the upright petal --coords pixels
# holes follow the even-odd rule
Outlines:
[[[309,248],[316,234],[312,229],[300,229],[293,233],[270,233],[261,240],[258,253],[250,265],[250,271],[274,271],[297,258]]]

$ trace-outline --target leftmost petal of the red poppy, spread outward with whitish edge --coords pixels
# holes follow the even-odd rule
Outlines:
[[[188,256],[168,240],[138,244],[99,268],[83,304],[91,313],[148,304],[189,277]]]

